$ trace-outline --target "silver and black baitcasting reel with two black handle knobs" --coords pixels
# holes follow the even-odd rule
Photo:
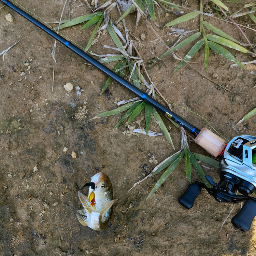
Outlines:
[[[256,215],[256,198],[249,196],[256,190],[256,136],[239,134],[227,144],[219,158],[222,159],[219,163],[219,183],[205,175],[212,188],[195,182],[179,198],[179,203],[186,209],[192,208],[201,188],[205,188],[218,202],[244,202],[231,223],[241,231],[248,231]],[[236,191],[241,195],[235,194]]]

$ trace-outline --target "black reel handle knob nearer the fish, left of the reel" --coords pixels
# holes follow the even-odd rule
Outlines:
[[[187,191],[178,199],[179,203],[186,209],[192,208],[201,190],[202,188],[197,183],[190,184]]]

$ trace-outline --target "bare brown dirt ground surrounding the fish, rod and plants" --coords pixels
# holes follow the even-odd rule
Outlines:
[[[29,11],[47,22],[59,20],[65,1],[18,1]],[[182,4],[185,1],[176,1]],[[82,2],[81,2],[82,3]],[[71,18],[89,13],[85,5],[71,5]],[[204,1],[204,4],[207,4]],[[248,2],[249,3],[249,2]],[[228,3],[230,4],[230,3]],[[244,4],[244,3],[243,3]],[[233,11],[243,4],[232,3]],[[2,6],[2,4],[1,4]],[[199,1],[188,0],[185,6],[199,10]],[[157,9],[155,9],[157,10]],[[14,22],[5,20],[11,13]],[[110,18],[118,19],[114,9]],[[163,26],[176,18],[165,12],[156,15],[157,27],[150,24],[161,36],[169,32]],[[62,19],[68,19],[67,8]],[[239,30],[230,23],[210,17],[205,18],[237,40],[246,43]],[[198,28],[195,22],[186,22],[179,28]],[[252,20],[243,16],[237,20],[247,26]],[[157,39],[148,23],[142,18],[135,30],[136,13],[126,17],[126,25],[133,35],[134,43],[140,47],[144,60],[160,56],[166,46]],[[162,28],[161,28],[162,27]],[[77,44],[85,47],[93,28],[79,29],[81,25],[61,32]],[[256,28],[254,26],[253,28]],[[120,26],[122,32],[122,26]],[[255,31],[243,28],[248,39],[255,43]],[[153,170],[174,153],[163,136],[149,137],[143,134],[127,136],[125,124],[112,128],[121,115],[89,120],[97,114],[116,108],[116,101],[133,98],[132,93],[111,83],[110,95],[99,96],[107,77],[57,42],[55,80],[52,93],[54,40],[23,17],[4,7],[0,10],[0,52],[18,40],[5,55],[0,56],[0,252],[2,256],[16,255],[256,255],[256,222],[250,231],[240,232],[231,224],[231,217],[239,211],[236,205],[223,229],[221,225],[232,209],[232,204],[218,203],[206,191],[197,198],[194,207],[185,210],[177,199],[188,186],[185,161],[170,175],[154,196],[146,200],[153,188],[152,179],[147,179],[129,193],[132,185],[141,180],[146,172]],[[143,34],[143,35],[142,35]],[[170,36],[170,42],[177,37]],[[167,37],[164,38],[167,43]],[[108,33],[91,46],[97,54],[114,53],[103,45],[114,46]],[[191,47],[191,46],[190,46]],[[154,52],[153,52],[154,50]],[[185,56],[189,48],[178,51]],[[229,50],[240,61],[252,57]],[[153,52],[153,54],[152,54]],[[179,60],[171,55],[162,61],[146,63],[148,74],[163,96],[206,118],[227,139],[236,136],[231,122],[236,124],[246,113],[256,107],[256,65],[244,70],[230,68],[232,62],[210,50],[209,70],[205,71],[204,49],[194,57],[193,66],[214,82],[203,78],[196,70],[184,66],[171,76]],[[25,72],[25,75],[20,74]],[[66,83],[80,86],[81,96],[63,88]],[[161,101],[158,98],[159,101]],[[163,101],[161,101],[164,103]],[[87,112],[86,112],[87,110]],[[173,111],[199,129],[209,127],[202,118],[174,106]],[[82,119],[78,117],[82,117]],[[139,115],[140,120],[143,115]],[[176,150],[181,146],[181,133],[164,117]],[[138,126],[138,124],[132,124]],[[144,128],[144,121],[141,128]],[[255,118],[238,127],[240,131],[256,134]],[[153,122],[150,130],[160,132]],[[193,142],[190,150],[207,154]],[[63,148],[67,147],[67,152]],[[77,153],[71,157],[72,151]],[[147,170],[141,167],[147,165]],[[90,181],[97,171],[111,178],[114,197],[114,223],[104,231],[95,231],[82,226],[76,218],[76,210],[82,209],[75,183],[82,186]],[[204,168],[206,174],[219,181],[217,169]],[[161,173],[156,175],[159,179]],[[192,182],[200,180],[192,170]],[[87,194],[87,189],[83,190]],[[166,194],[167,193],[167,194]],[[138,251],[138,252],[137,252]]]

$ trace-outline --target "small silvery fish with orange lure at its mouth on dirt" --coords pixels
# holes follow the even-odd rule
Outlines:
[[[94,230],[104,230],[113,214],[113,187],[108,175],[98,172],[91,177],[95,189],[89,187],[88,197],[78,191],[78,197],[84,207],[77,211],[77,219],[83,226],[88,226]]]

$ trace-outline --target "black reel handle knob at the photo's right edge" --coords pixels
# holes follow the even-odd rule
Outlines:
[[[241,231],[248,231],[251,228],[256,215],[256,201],[247,200],[242,209],[231,219],[231,223]]]

